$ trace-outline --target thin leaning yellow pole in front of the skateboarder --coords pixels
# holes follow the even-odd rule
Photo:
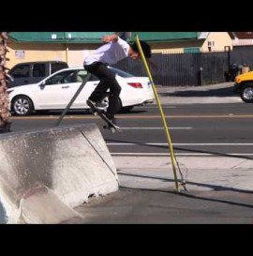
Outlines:
[[[165,119],[165,115],[164,115],[164,112],[163,112],[163,109],[162,109],[162,106],[161,106],[160,99],[159,99],[157,91],[156,91],[155,83],[153,81],[152,75],[151,75],[150,70],[148,68],[146,58],[145,58],[145,56],[143,54],[143,51],[141,49],[141,43],[140,43],[140,39],[139,39],[138,35],[136,35],[136,43],[137,43],[137,46],[138,46],[138,49],[139,49],[139,53],[141,53],[141,59],[144,63],[144,66],[145,66],[146,72],[148,74],[149,80],[152,83],[152,88],[153,88],[153,91],[154,91],[156,102],[157,102],[157,105],[158,105],[158,108],[159,108],[159,111],[160,111],[160,114],[161,114],[163,126],[164,126],[164,129],[165,129],[166,138],[167,138],[168,145],[169,145],[170,152],[171,152],[171,163],[172,163],[172,169],[173,169],[174,179],[175,179],[175,188],[179,192],[180,188],[179,188],[179,185],[178,185],[178,179],[177,179],[177,173],[176,173],[176,159],[175,159],[175,156],[174,156],[174,150],[173,150],[173,146],[172,146],[172,143],[171,143],[171,135],[170,135],[167,123],[166,123],[166,119]]]

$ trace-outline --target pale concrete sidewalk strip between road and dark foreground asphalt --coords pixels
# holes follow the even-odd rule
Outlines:
[[[113,160],[122,186],[174,189],[170,157],[113,157]],[[177,157],[177,161],[189,191],[241,189],[253,193],[253,159]]]

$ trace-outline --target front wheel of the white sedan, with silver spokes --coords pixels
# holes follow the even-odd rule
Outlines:
[[[33,102],[25,96],[18,96],[12,101],[12,110],[17,115],[28,115],[34,111]]]

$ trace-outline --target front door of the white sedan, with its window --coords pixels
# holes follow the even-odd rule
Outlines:
[[[76,70],[57,72],[40,83],[38,85],[40,89],[35,96],[37,109],[65,109],[77,90],[75,74]]]

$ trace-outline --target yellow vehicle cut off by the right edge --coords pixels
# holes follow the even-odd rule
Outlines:
[[[235,78],[234,91],[240,93],[246,103],[253,103],[253,71]]]

